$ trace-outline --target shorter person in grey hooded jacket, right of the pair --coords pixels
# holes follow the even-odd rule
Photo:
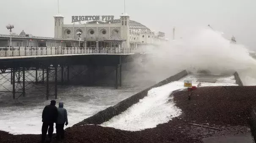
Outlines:
[[[68,122],[68,113],[65,108],[63,108],[63,103],[59,103],[58,108],[58,118],[56,121],[56,139],[63,139],[64,138],[64,124],[66,122],[66,125],[69,124]]]

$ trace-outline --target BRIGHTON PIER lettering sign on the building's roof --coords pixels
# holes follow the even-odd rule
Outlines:
[[[72,23],[79,21],[89,21],[89,20],[100,20],[100,21],[114,21],[114,16],[72,16]]]

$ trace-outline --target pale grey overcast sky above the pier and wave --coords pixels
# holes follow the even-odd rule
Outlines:
[[[119,15],[124,12],[124,0],[59,0],[64,24],[71,16]],[[8,34],[7,24],[14,32],[23,29],[34,36],[54,37],[57,0],[0,0],[0,34]],[[169,38],[176,26],[177,37],[198,26],[210,24],[213,29],[232,35],[238,43],[256,50],[256,0],[126,0],[126,12],[131,20],[165,32]]]

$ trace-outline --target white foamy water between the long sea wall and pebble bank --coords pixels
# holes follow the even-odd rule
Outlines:
[[[138,103],[129,107],[107,122],[101,124],[103,127],[114,127],[121,130],[138,131],[154,128],[157,124],[170,121],[173,117],[179,117],[182,110],[175,106],[170,100],[170,94],[174,90],[184,89],[184,80],[192,80],[197,85],[199,77],[217,79],[216,83],[201,83],[201,86],[237,86],[234,76],[210,76],[210,75],[188,75],[176,82],[171,82],[161,87],[149,90],[148,95]],[[168,102],[169,101],[169,102]]]

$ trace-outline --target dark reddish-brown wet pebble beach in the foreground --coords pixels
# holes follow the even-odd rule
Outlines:
[[[248,122],[251,106],[256,103],[256,87],[200,87],[193,91],[190,100],[186,90],[173,96],[182,115],[168,123],[136,132],[96,125],[69,127],[65,130],[66,138],[59,143],[203,143],[202,139],[210,136],[250,132]],[[39,143],[40,139],[41,135],[11,135],[0,131],[0,143]]]

